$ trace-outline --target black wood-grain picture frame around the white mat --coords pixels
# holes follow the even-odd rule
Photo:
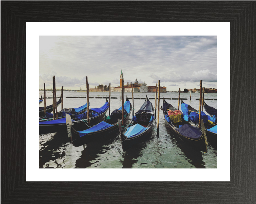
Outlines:
[[[1,203],[256,203],[255,18],[255,1],[1,1]],[[26,182],[26,22],[230,22],[230,182]]]

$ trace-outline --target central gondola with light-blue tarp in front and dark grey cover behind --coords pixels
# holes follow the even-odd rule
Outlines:
[[[154,108],[147,96],[142,107],[133,116],[126,132],[123,133],[121,121],[118,119],[119,133],[124,152],[145,140],[153,127],[153,121]]]

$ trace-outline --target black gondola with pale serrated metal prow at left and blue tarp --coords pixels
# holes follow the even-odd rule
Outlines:
[[[126,96],[126,102],[124,103],[124,124],[128,121],[130,113],[132,111],[132,105]],[[68,129],[68,136],[71,138],[71,142],[75,147],[93,142],[100,141],[107,135],[114,135],[118,132],[118,119],[122,118],[122,107],[112,111],[111,115],[105,116],[105,120],[101,123],[82,131],[77,131],[73,126],[71,117],[66,115],[66,126]],[[90,120],[91,121],[91,120]]]

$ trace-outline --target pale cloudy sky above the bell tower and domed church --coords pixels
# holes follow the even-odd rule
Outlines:
[[[167,91],[217,88],[216,36],[40,36],[39,88],[86,89],[127,81]]]

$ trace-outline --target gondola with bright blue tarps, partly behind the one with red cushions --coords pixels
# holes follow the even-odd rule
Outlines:
[[[184,103],[183,100],[181,100],[181,104],[186,104]],[[198,126],[198,115],[199,111],[192,108],[190,105],[186,104],[188,107],[188,114],[190,115],[189,119],[192,120],[194,124]],[[182,108],[182,107],[181,107]],[[186,111],[183,111],[185,113]],[[196,114],[193,114],[196,113]],[[201,111],[201,117],[204,121],[204,127],[206,129],[206,135],[208,138],[208,141],[210,142],[211,145],[217,145],[217,123],[215,119],[215,116],[211,115],[210,117],[206,115],[203,111]]]

